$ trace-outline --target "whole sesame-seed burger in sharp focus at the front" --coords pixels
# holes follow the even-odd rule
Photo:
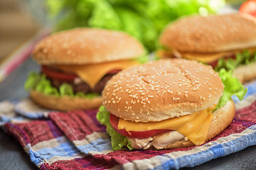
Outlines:
[[[245,93],[225,69],[219,76],[201,62],[163,59],[115,74],[102,91],[97,120],[106,125],[113,149],[202,145],[232,122],[230,97]]]

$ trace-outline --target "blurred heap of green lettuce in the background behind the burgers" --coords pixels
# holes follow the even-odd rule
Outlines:
[[[97,27],[123,30],[140,40],[149,51],[156,47],[161,30],[176,18],[215,13],[225,0],[47,0],[55,30]]]

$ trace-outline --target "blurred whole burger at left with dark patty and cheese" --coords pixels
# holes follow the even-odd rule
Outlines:
[[[53,33],[33,50],[41,72],[25,88],[38,105],[60,111],[97,108],[106,82],[121,69],[139,64],[142,44],[126,33],[75,28]]]

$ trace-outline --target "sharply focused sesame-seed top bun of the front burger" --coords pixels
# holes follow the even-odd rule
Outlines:
[[[202,111],[218,103],[223,83],[200,62],[166,59],[117,73],[102,91],[103,105],[125,120],[161,121]]]

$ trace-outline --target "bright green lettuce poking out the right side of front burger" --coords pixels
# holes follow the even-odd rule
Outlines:
[[[224,106],[225,103],[227,103],[233,95],[238,96],[239,100],[241,101],[247,93],[247,88],[245,89],[241,82],[233,77],[231,71],[227,72],[225,69],[220,69],[218,73],[220,79],[223,81],[225,88],[223,91],[223,96],[220,97],[220,100],[215,109]]]

